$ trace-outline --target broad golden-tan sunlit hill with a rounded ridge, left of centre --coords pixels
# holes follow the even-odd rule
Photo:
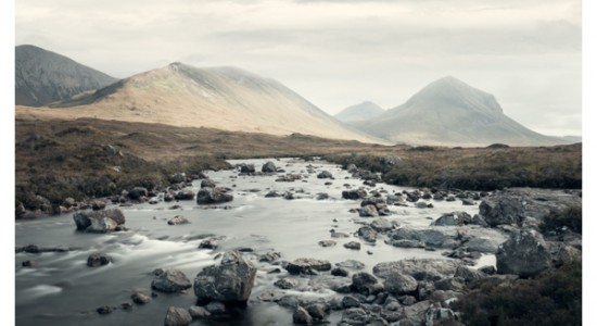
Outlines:
[[[52,108],[17,108],[17,116],[85,116],[388,143],[343,125],[282,84],[236,67],[172,63]]]

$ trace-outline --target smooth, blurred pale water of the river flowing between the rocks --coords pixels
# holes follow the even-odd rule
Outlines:
[[[283,160],[243,160],[230,163],[253,163],[259,170],[266,161],[274,161],[285,173],[302,174],[304,178],[293,183],[276,181],[279,175],[243,176],[236,170],[207,172],[218,186],[233,189],[234,200],[230,208],[200,206],[194,201],[136,204],[120,208],[126,216],[128,231],[105,235],[85,234],[75,230],[73,214],[52,216],[35,221],[17,221],[15,225],[16,246],[76,248],[68,252],[17,253],[15,258],[15,317],[17,325],[163,325],[168,306],[189,308],[194,304],[192,288],[185,293],[158,297],[145,305],[134,305],[130,311],[118,309],[109,315],[99,315],[96,309],[102,305],[119,306],[131,302],[136,291],[151,293],[152,272],[155,268],[178,268],[192,283],[202,267],[216,263],[214,258],[224,251],[237,248],[252,248],[247,254],[258,267],[255,287],[249,306],[232,322],[225,325],[291,325],[292,312],[275,303],[258,300],[261,293],[275,289],[272,284],[281,274],[268,274],[275,266],[259,263],[257,254],[275,250],[282,260],[315,258],[329,260],[332,265],[346,260],[357,260],[371,273],[374,264],[408,258],[442,258],[441,250],[394,248],[378,240],[367,244],[361,241],[359,251],[345,249],[342,244],[358,240],[356,237],[334,238],[334,247],[322,248],[320,240],[330,240],[330,229],[353,235],[359,223],[370,217],[359,217],[348,212],[359,206],[359,201],[342,199],[347,186],[358,188],[363,181],[352,178],[340,166],[326,162],[302,162]],[[316,173],[308,173],[307,165]],[[317,173],[329,171],[333,180],[318,179]],[[331,185],[326,183],[331,181]],[[193,183],[198,191],[200,181]],[[388,193],[407,188],[378,185],[377,190]],[[266,198],[269,190],[295,192],[295,199]],[[410,190],[410,189],[408,189]],[[329,195],[327,200],[317,200],[319,192]],[[460,201],[433,201],[433,209],[390,206],[394,214],[386,216],[399,225],[428,226],[431,218],[443,213],[466,211],[478,213],[478,206],[463,206]],[[180,209],[170,210],[174,204]],[[115,205],[111,205],[113,208]],[[183,215],[190,224],[168,225],[167,220]],[[334,222],[334,218],[336,222]],[[198,249],[204,235],[221,236],[216,250]],[[367,253],[370,251],[372,254]],[[101,267],[88,267],[91,253],[104,252],[113,262]],[[484,256],[480,265],[492,264],[493,255]],[[23,261],[35,262],[33,267],[23,267]],[[278,289],[279,290],[279,289]],[[297,291],[287,290],[289,293]],[[330,297],[329,289],[313,288],[302,292],[314,297]],[[334,316],[331,316],[333,321]],[[224,325],[223,324],[223,325]],[[193,325],[207,325],[194,322]]]

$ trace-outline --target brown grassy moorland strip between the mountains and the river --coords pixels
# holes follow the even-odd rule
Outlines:
[[[16,120],[15,208],[51,214],[66,198],[106,197],[135,186],[161,189],[173,174],[227,167],[226,159],[314,155],[383,172],[385,181],[404,186],[582,187],[581,145],[412,148],[93,118]],[[388,156],[401,160],[388,165]]]

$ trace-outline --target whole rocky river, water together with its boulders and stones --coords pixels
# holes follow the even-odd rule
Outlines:
[[[577,191],[412,189],[320,161],[230,163],[170,191],[17,221],[16,323],[423,325],[456,321],[448,304],[470,280],[536,275],[582,250],[566,229],[536,231]]]

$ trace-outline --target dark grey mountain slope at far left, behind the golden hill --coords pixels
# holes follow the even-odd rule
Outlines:
[[[15,48],[14,68],[17,105],[42,106],[117,80],[35,46]]]

